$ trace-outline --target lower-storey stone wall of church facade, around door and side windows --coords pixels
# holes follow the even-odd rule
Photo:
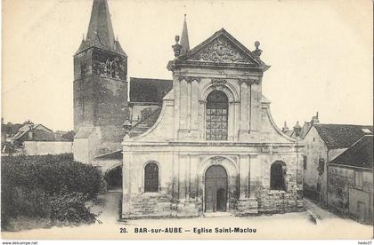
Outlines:
[[[274,147],[271,154],[252,153],[253,156],[250,154],[248,157],[245,151],[252,152],[253,148],[243,147],[240,154],[230,154],[227,146],[209,146],[211,154],[193,154],[198,148],[190,146],[187,154],[183,153],[182,146],[159,146],[155,149],[146,145],[136,147],[137,150],[130,146],[124,152],[125,218],[201,215],[205,207],[205,170],[215,164],[223,166],[228,174],[228,212],[244,216],[303,208],[301,154],[286,153],[290,147]],[[238,148],[232,150],[240,152]],[[206,152],[207,148],[203,151]],[[287,166],[285,191],[270,190],[270,167],[278,160],[286,162]],[[144,193],[144,166],[147,162],[159,165],[158,193]],[[240,172],[242,175],[239,175]]]

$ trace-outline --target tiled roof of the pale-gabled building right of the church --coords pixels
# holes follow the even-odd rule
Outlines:
[[[371,134],[373,132],[373,126],[350,124],[314,124],[313,126],[329,149],[352,146],[354,142],[367,134],[362,129],[369,129]]]

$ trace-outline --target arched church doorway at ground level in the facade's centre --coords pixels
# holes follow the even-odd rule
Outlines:
[[[219,165],[205,173],[205,212],[225,212],[227,207],[227,172]]]

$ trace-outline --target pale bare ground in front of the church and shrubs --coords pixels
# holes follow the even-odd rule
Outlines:
[[[93,206],[100,214],[93,225],[53,227],[2,233],[3,239],[370,239],[371,225],[362,225],[305,201],[310,211],[254,217],[195,217],[123,221],[120,192],[99,197]],[[311,211],[319,217],[311,220]]]

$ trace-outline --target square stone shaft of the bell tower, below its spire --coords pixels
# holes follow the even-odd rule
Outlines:
[[[94,64],[118,59],[119,73],[98,73]],[[120,149],[127,105],[126,57],[90,48],[74,56],[74,145],[76,160],[91,163],[93,157]],[[84,140],[85,139],[85,140]]]

